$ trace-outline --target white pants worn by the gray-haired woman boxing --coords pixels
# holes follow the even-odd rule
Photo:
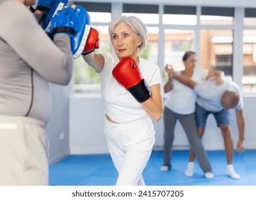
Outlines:
[[[142,173],[155,142],[151,119],[125,124],[115,124],[105,119],[104,132],[110,156],[119,174],[115,185],[145,185]]]

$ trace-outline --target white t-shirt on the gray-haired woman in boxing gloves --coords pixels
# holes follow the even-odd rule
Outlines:
[[[119,123],[146,118],[148,114],[142,105],[112,75],[115,65],[119,62],[118,56],[110,53],[103,56],[105,65],[100,72],[100,78],[105,113],[110,119]],[[157,64],[140,58],[138,67],[148,87],[161,84],[161,74]]]

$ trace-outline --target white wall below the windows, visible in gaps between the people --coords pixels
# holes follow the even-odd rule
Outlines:
[[[247,149],[256,149],[256,97],[245,96],[245,145]],[[108,147],[103,134],[104,124],[103,100],[100,96],[72,96],[70,98],[70,154],[105,154]],[[234,146],[237,144],[238,131],[234,110],[231,110],[231,123]],[[154,122],[156,129],[156,143],[154,149],[163,149],[163,120]],[[203,137],[207,150],[224,149],[222,135],[216,126],[212,115],[207,121],[207,128]],[[189,149],[180,124],[176,126],[174,149]]]

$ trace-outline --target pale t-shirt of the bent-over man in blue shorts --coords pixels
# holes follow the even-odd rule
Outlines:
[[[234,81],[229,79],[223,79],[222,85],[215,84],[214,79],[208,79],[204,84],[196,84],[194,90],[199,95],[197,99],[197,104],[207,111],[221,111],[224,109],[220,100],[222,98],[222,94],[224,91],[235,91],[240,95],[240,101],[237,106],[234,108],[235,110],[240,110],[243,108],[244,101],[242,99],[242,91],[239,86]]]

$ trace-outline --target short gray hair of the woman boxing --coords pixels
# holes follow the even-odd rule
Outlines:
[[[142,43],[140,46],[138,46],[138,48],[140,49],[140,51],[142,51],[147,45],[148,31],[145,24],[143,24],[141,19],[138,19],[138,17],[136,16],[118,16],[117,18],[113,19],[113,21],[111,21],[108,26],[108,34],[110,35],[110,38],[111,38],[111,35],[113,34],[115,26],[117,26],[121,22],[130,26],[131,30],[136,35],[141,37]]]

